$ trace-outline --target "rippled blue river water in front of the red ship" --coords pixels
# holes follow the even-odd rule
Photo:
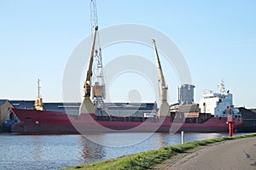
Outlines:
[[[241,133],[236,133],[239,135]],[[185,142],[228,136],[185,133]],[[60,169],[180,144],[179,133],[14,135],[0,133],[0,169]]]

